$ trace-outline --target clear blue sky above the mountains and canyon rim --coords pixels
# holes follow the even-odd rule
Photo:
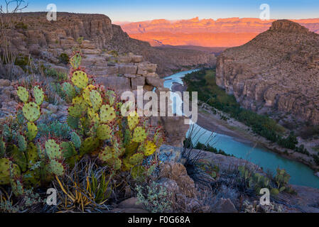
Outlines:
[[[55,4],[58,11],[73,13],[103,13],[112,21],[146,21],[165,18],[169,20],[199,18],[258,18],[261,4],[269,4],[271,18],[319,18],[318,0],[26,0],[27,11],[46,11]],[[2,3],[3,0],[0,0]]]

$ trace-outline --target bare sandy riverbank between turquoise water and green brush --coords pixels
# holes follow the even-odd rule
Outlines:
[[[174,83],[172,92],[184,92],[186,89],[187,87],[183,86],[182,84]],[[222,116],[224,116],[224,120],[222,119]],[[227,121],[225,120],[225,116],[228,118]],[[315,165],[315,163],[312,161],[312,158],[308,155],[297,153],[296,151],[289,150],[287,148],[281,148],[276,143],[272,143],[271,141],[266,140],[266,138],[253,133],[252,129],[244,125],[244,123],[236,121],[234,118],[229,118],[227,114],[213,109],[212,106],[207,104],[200,103],[198,105],[197,123],[199,126],[208,131],[229,135],[234,138],[234,140],[237,140],[241,143],[247,143],[252,145],[252,147],[267,148],[268,150],[277,153],[281,157],[301,162],[315,172],[319,171],[318,166]]]

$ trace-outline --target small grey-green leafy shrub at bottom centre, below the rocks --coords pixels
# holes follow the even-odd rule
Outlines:
[[[136,193],[139,204],[143,204],[151,213],[163,213],[172,209],[172,195],[156,182],[146,187],[136,186]]]

